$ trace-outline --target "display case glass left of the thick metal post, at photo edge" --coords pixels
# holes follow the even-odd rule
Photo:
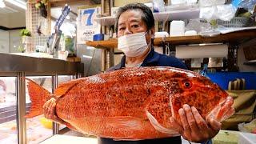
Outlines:
[[[0,77],[0,143],[18,143],[15,77]]]

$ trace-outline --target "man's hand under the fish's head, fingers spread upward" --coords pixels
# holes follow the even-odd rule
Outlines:
[[[206,121],[198,113],[198,110],[192,106],[184,105],[178,114],[181,118],[182,126],[170,118],[178,132],[188,141],[191,142],[205,142],[210,138],[214,138],[218,131],[221,129],[222,124],[214,118],[206,118]]]

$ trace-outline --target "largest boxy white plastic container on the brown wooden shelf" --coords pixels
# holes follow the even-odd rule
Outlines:
[[[185,22],[172,21],[170,22],[170,37],[184,36],[185,34]]]

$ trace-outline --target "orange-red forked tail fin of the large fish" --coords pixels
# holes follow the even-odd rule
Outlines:
[[[25,118],[33,118],[35,116],[43,114],[42,106],[51,98],[51,94],[48,90],[38,85],[36,82],[26,78],[28,82],[28,91],[30,95],[30,112],[26,114]]]

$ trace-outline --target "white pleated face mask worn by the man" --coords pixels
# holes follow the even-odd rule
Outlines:
[[[146,33],[127,34],[119,37],[118,50],[121,50],[127,57],[137,57],[143,54],[148,47]]]

